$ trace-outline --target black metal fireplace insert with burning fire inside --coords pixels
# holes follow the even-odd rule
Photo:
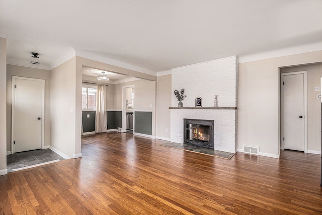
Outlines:
[[[184,144],[214,149],[213,120],[183,119]]]

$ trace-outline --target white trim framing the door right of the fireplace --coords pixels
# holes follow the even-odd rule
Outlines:
[[[280,122],[281,122],[281,135],[280,135],[280,149],[284,150],[284,87],[283,80],[286,75],[295,75],[295,74],[303,74],[303,91],[304,91],[304,153],[307,153],[307,71],[299,71],[299,72],[285,72],[281,73],[281,81],[280,81],[280,97],[281,97],[281,106],[280,106]]]

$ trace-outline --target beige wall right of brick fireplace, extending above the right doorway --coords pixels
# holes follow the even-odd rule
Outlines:
[[[279,67],[322,62],[322,51],[239,63],[238,151],[243,145],[279,157]]]

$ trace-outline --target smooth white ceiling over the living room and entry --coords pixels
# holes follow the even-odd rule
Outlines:
[[[9,64],[52,69],[76,55],[156,75],[322,50],[321,11],[320,0],[0,0],[0,36]]]

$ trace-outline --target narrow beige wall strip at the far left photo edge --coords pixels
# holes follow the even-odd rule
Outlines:
[[[0,175],[7,171],[7,39],[0,37]]]

